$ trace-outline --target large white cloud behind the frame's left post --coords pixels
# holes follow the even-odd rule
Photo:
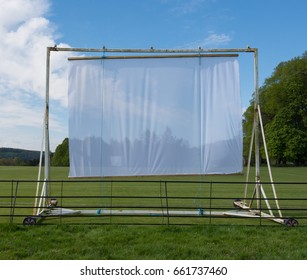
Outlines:
[[[0,7],[0,127],[6,131],[6,135],[1,133],[0,147],[40,149],[46,48],[55,45],[57,38],[53,24],[46,18],[50,1],[0,0]],[[52,56],[50,99],[65,107],[67,54]],[[50,119],[54,129],[64,129],[58,117],[51,115]],[[28,133],[21,136],[25,128]],[[52,148],[57,144],[52,143]]]

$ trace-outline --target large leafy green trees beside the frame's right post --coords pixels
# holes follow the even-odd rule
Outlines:
[[[306,164],[307,52],[275,68],[259,89],[259,102],[270,157],[277,164]],[[253,104],[245,113],[245,141],[251,135],[252,112]]]

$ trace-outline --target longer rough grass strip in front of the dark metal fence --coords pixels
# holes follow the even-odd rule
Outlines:
[[[0,259],[298,260],[307,228],[0,225]]]

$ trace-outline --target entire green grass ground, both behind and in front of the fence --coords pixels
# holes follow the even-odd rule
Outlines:
[[[208,219],[174,218],[170,221],[164,217],[106,217],[46,219],[38,226],[21,225],[24,215],[31,215],[33,199],[17,199],[16,205],[29,208],[16,209],[14,223],[10,224],[9,212],[1,208],[0,223],[0,259],[307,259],[305,200],[282,200],[286,198],[307,198],[307,168],[273,168],[280,205],[283,212],[298,218],[300,226],[288,228],[271,221],[259,219]],[[37,168],[0,167],[0,180],[35,180]],[[268,174],[261,170],[263,182],[268,181]],[[232,199],[243,196],[245,176],[205,176],[198,180],[206,183],[183,184],[176,182],[182,178],[146,178],[157,182],[122,183],[84,183],[61,182],[67,180],[67,168],[53,168],[52,179],[60,182],[52,184],[53,195],[165,195],[165,186],[159,181],[174,181],[168,186],[168,195],[177,198],[169,201],[169,207],[185,203],[185,207],[205,207],[208,201],[198,205],[195,199],[184,200],[181,197],[200,197],[209,195],[211,182],[214,187],[211,195],[219,198],[211,202],[216,208],[232,207]],[[144,178],[139,178],[144,180]],[[186,177],[184,180],[195,181]],[[16,190],[18,195],[34,195],[36,184],[33,182],[1,182],[1,196],[9,196]],[[242,182],[242,183],[237,183]],[[288,184],[278,184],[287,182]],[[301,183],[299,185],[294,183]],[[189,187],[187,187],[189,186]],[[268,186],[264,185],[267,196],[271,197]],[[251,187],[252,188],[252,187]],[[268,190],[267,190],[268,189]],[[248,196],[251,195],[249,191]],[[179,198],[178,198],[179,197]],[[222,199],[223,198],[223,199]],[[225,199],[224,199],[225,198]],[[9,203],[2,198],[1,205]],[[96,207],[136,204],[161,206],[161,199],[143,199],[127,201],[121,198],[90,200],[63,199],[65,206]],[[182,206],[182,205],[181,205]],[[289,208],[299,210],[291,211]],[[131,220],[132,219],[132,220]],[[145,219],[145,220],[144,220]],[[147,219],[150,219],[148,221]],[[164,219],[164,220],[163,220]],[[128,220],[128,221],[127,221]],[[127,225],[125,223],[159,223],[160,225]],[[119,225],[118,223],[121,223]],[[179,226],[175,224],[190,223],[195,225]],[[170,226],[167,226],[170,224]]]

